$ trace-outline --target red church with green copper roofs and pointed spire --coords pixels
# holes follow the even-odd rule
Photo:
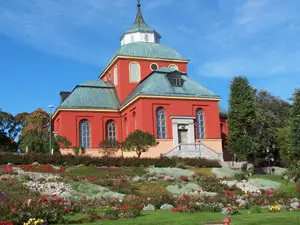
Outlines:
[[[227,115],[219,106],[221,97],[190,79],[189,60],[160,39],[146,24],[139,3],[134,24],[121,36],[121,47],[98,79],[60,93],[53,132],[92,156],[101,156],[101,141],[124,141],[139,129],[159,142],[142,157],[201,149],[201,157],[222,160]]]

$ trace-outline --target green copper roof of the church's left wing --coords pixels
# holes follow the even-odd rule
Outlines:
[[[87,81],[76,86],[59,108],[118,109],[119,105],[112,84],[103,81]]]

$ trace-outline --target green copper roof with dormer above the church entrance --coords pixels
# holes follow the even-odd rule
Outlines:
[[[167,70],[167,68],[155,71],[145,80],[143,80],[128,96],[122,105],[125,105],[138,95],[220,98],[220,96],[216,95],[202,85],[192,81],[181,72],[162,72],[163,70]],[[174,87],[170,83],[167,75],[172,73],[176,73],[176,75],[181,77],[181,87]]]

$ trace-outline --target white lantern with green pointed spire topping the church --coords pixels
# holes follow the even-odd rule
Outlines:
[[[133,42],[160,43],[161,36],[146,24],[142,15],[141,6],[140,0],[138,0],[135,21],[131,28],[122,35],[121,45]]]

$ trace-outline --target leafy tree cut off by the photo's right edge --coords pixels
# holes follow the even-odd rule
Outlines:
[[[296,89],[291,110],[292,156],[300,159],[300,89]]]

